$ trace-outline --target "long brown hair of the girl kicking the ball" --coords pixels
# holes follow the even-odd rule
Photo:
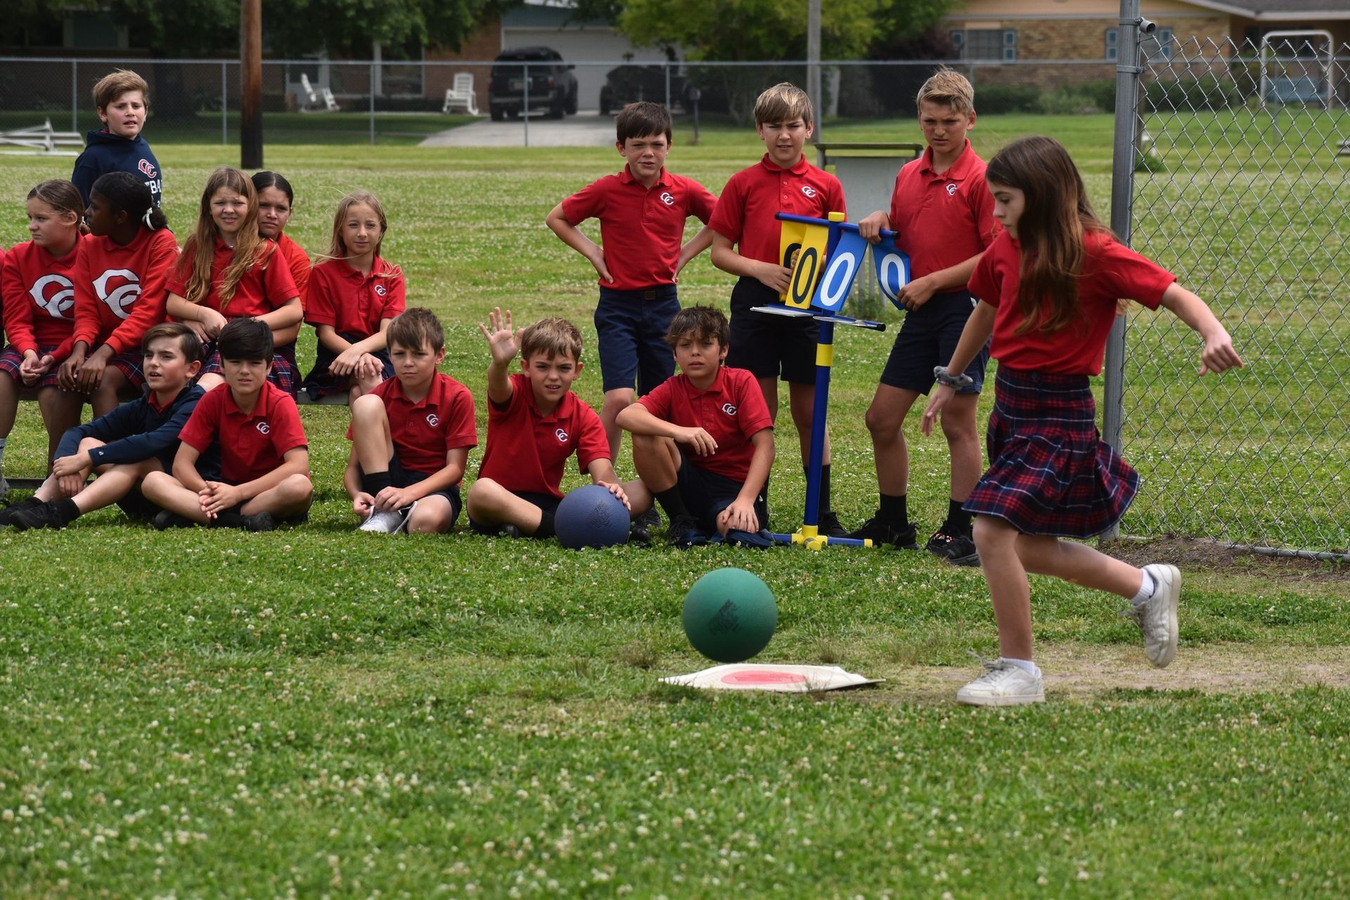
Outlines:
[[[1015,333],[1056,332],[1079,321],[1083,236],[1111,229],[1092,212],[1073,159],[1054,138],[1034,135],[994,154],[984,177],[1026,197],[1017,223],[1022,244],[1017,310],[1022,322]]]

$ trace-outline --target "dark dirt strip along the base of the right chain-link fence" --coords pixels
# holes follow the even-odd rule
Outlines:
[[[1160,537],[1148,541],[1119,540],[1103,542],[1100,549],[1103,553],[1125,560],[1131,565],[1170,563],[1181,571],[1208,569],[1212,572],[1254,575],[1289,582],[1350,583],[1350,563],[1310,560],[1297,556],[1268,556],[1208,538]]]

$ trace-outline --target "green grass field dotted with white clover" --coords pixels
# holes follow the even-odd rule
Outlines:
[[[975,134],[984,155],[1019,134],[1054,134],[1104,210],[1110,127],[1106,116],[990,116]],[[698,147],[680,136],[671,169],[714,189],[757,157],[745,134],[705,130]],[[917,130],[844,123],[830,138],[914,140]],[[238,158],[173,144],[158,155],[182,236],[207,171]],[[494,305],[520,318],[566,314],[591,341],[594,277],[543,217],[617,169],[612,151],[270,146],[267,165],[296,185],[290,233],[310,250],[327,243],[346,190],[385,200],[386,256],[408,273],[409,302],[443,316],[446,371],[479,397],[487,355],[477,324]],[[1350,371],[1331,339],[1274,324],[1316,321],[1296,300],[1312,279],[1288,258],[1256,263],[1291,286],[1272,302],[1215,283],[1220,251],[1191,250],[1218,246],[1206,210],[1222,201],[1241,220],[1243,186],[1262,185],[1278,161],[1269,170],[1250,155],[1193,165],[1177,159],[1166,190],[1196,212],[1158,217],[1172,231],[1150,235],[1145,250],[1219,301],[1239,349],[1243,339],[1261,349],[1237,378],[1196,383],[1187,374],[1196,343],[1165,318],[1134,314],[1174,358],[1148,372],[1138,402],[1166,399],[1176,412],[1161,425],[1127,416],[1127,434],[1148,425],[1168,441],[1134,455],[1146,480],[1127,532],[1156,533],[1169,509],[1160,495],[1180,491],[1196,506],[1192,479],[1222,479],[1243,460],[1297,461],[1308,474],[1295,478],[1332,484],[1343,467],[1343,403],[1341,430],[1336,413],[1323,413],[1328,424],[1308,441],[1320,456],[1272,459],[1257,443],[1307,414],[1297,398],[1274,402],[1288,366],[1280,354],[1326,347],[1319,391],[1345,391]],[[1330,165],[1343,173],[1343,162]],[[68,166],[5,159],[0,244],[24,239],[26,190]],[[1299,219],[1292,200],[1274,215],[1299,232],[1343,235],[1345,182],[1327,184],[1320,217]],[[1242,247],[1233,254],[1246,258]],[[706,256],[682,279],[686,302],[725,304],[728,293]],[[1331,335],[1345,331],[1343,316],[1331,322]],[[838,340],[830,416],[846,522],[875,503],[863,413],[890,340],[855,329]],[[312,354],[306,335],[300,358]],[[593,343],[585,362],[578,391],[598,402]],[[1202,414],[1223,428],[1196,426]],[[59,533],[0,532],[0,895],[1350,891],[1350,587],[1338,568],[1243,559],[1188,571],[1181,653],[1165,672],[1149,669],[1115,615],[1123,603],[1034,579],[1049,702],[968,710],[953,704],[977,669],[967,650],[996,654],[977,571],[891,551],[574,553],[462,529],[356,534],[340,487],[346,410],[304,407],[302,417],[317,487],[304,528],[161,534],[100,513]],[[485,434],[483,410],[479,418]],[[11,475],[40,468],[36,420],[32,405],[20,410]],[[932,529],[945,509],[945,447],[910,437],[910,506]],[[774,525],[786,530],[803,491],[786,422],[778,453]],[[626,457],[620,471],[630,472]],[[1241,478],[1253,495],[1273,482]],[[567,486],[579,483],[568,475]],[[1234,514],[1243,534],[1258,534],[1265,517],[1345,528],[1339,501],[1253,503]],[[660,685],[706,664],[680,631],[680,599],[718,565],[749,568],[778,596],[765,661],[837,664],[886,683],[821,698]]]

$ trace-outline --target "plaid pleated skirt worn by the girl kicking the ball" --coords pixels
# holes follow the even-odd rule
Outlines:
[[[990,470],[963,509],[1023,534],[1095,537],[1120,521],[1139,474],[1102,440],[1087,375],[999,367]]]

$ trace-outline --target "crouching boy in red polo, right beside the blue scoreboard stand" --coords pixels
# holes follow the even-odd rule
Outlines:
[[[680,374],[618,414],[633,433],[633,464],[670,515],[680,549],[720,540],[768,546],[764,482],[774,420],[755,376],[725,368],[730,328],[710,306],[682,309],[666,343]]]

